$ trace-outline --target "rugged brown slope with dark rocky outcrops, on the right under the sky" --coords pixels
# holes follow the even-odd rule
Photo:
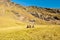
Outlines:
[[[60,10],[52,8],[27,7],[27,11],[33,16],[51,24],[60,24]]]

